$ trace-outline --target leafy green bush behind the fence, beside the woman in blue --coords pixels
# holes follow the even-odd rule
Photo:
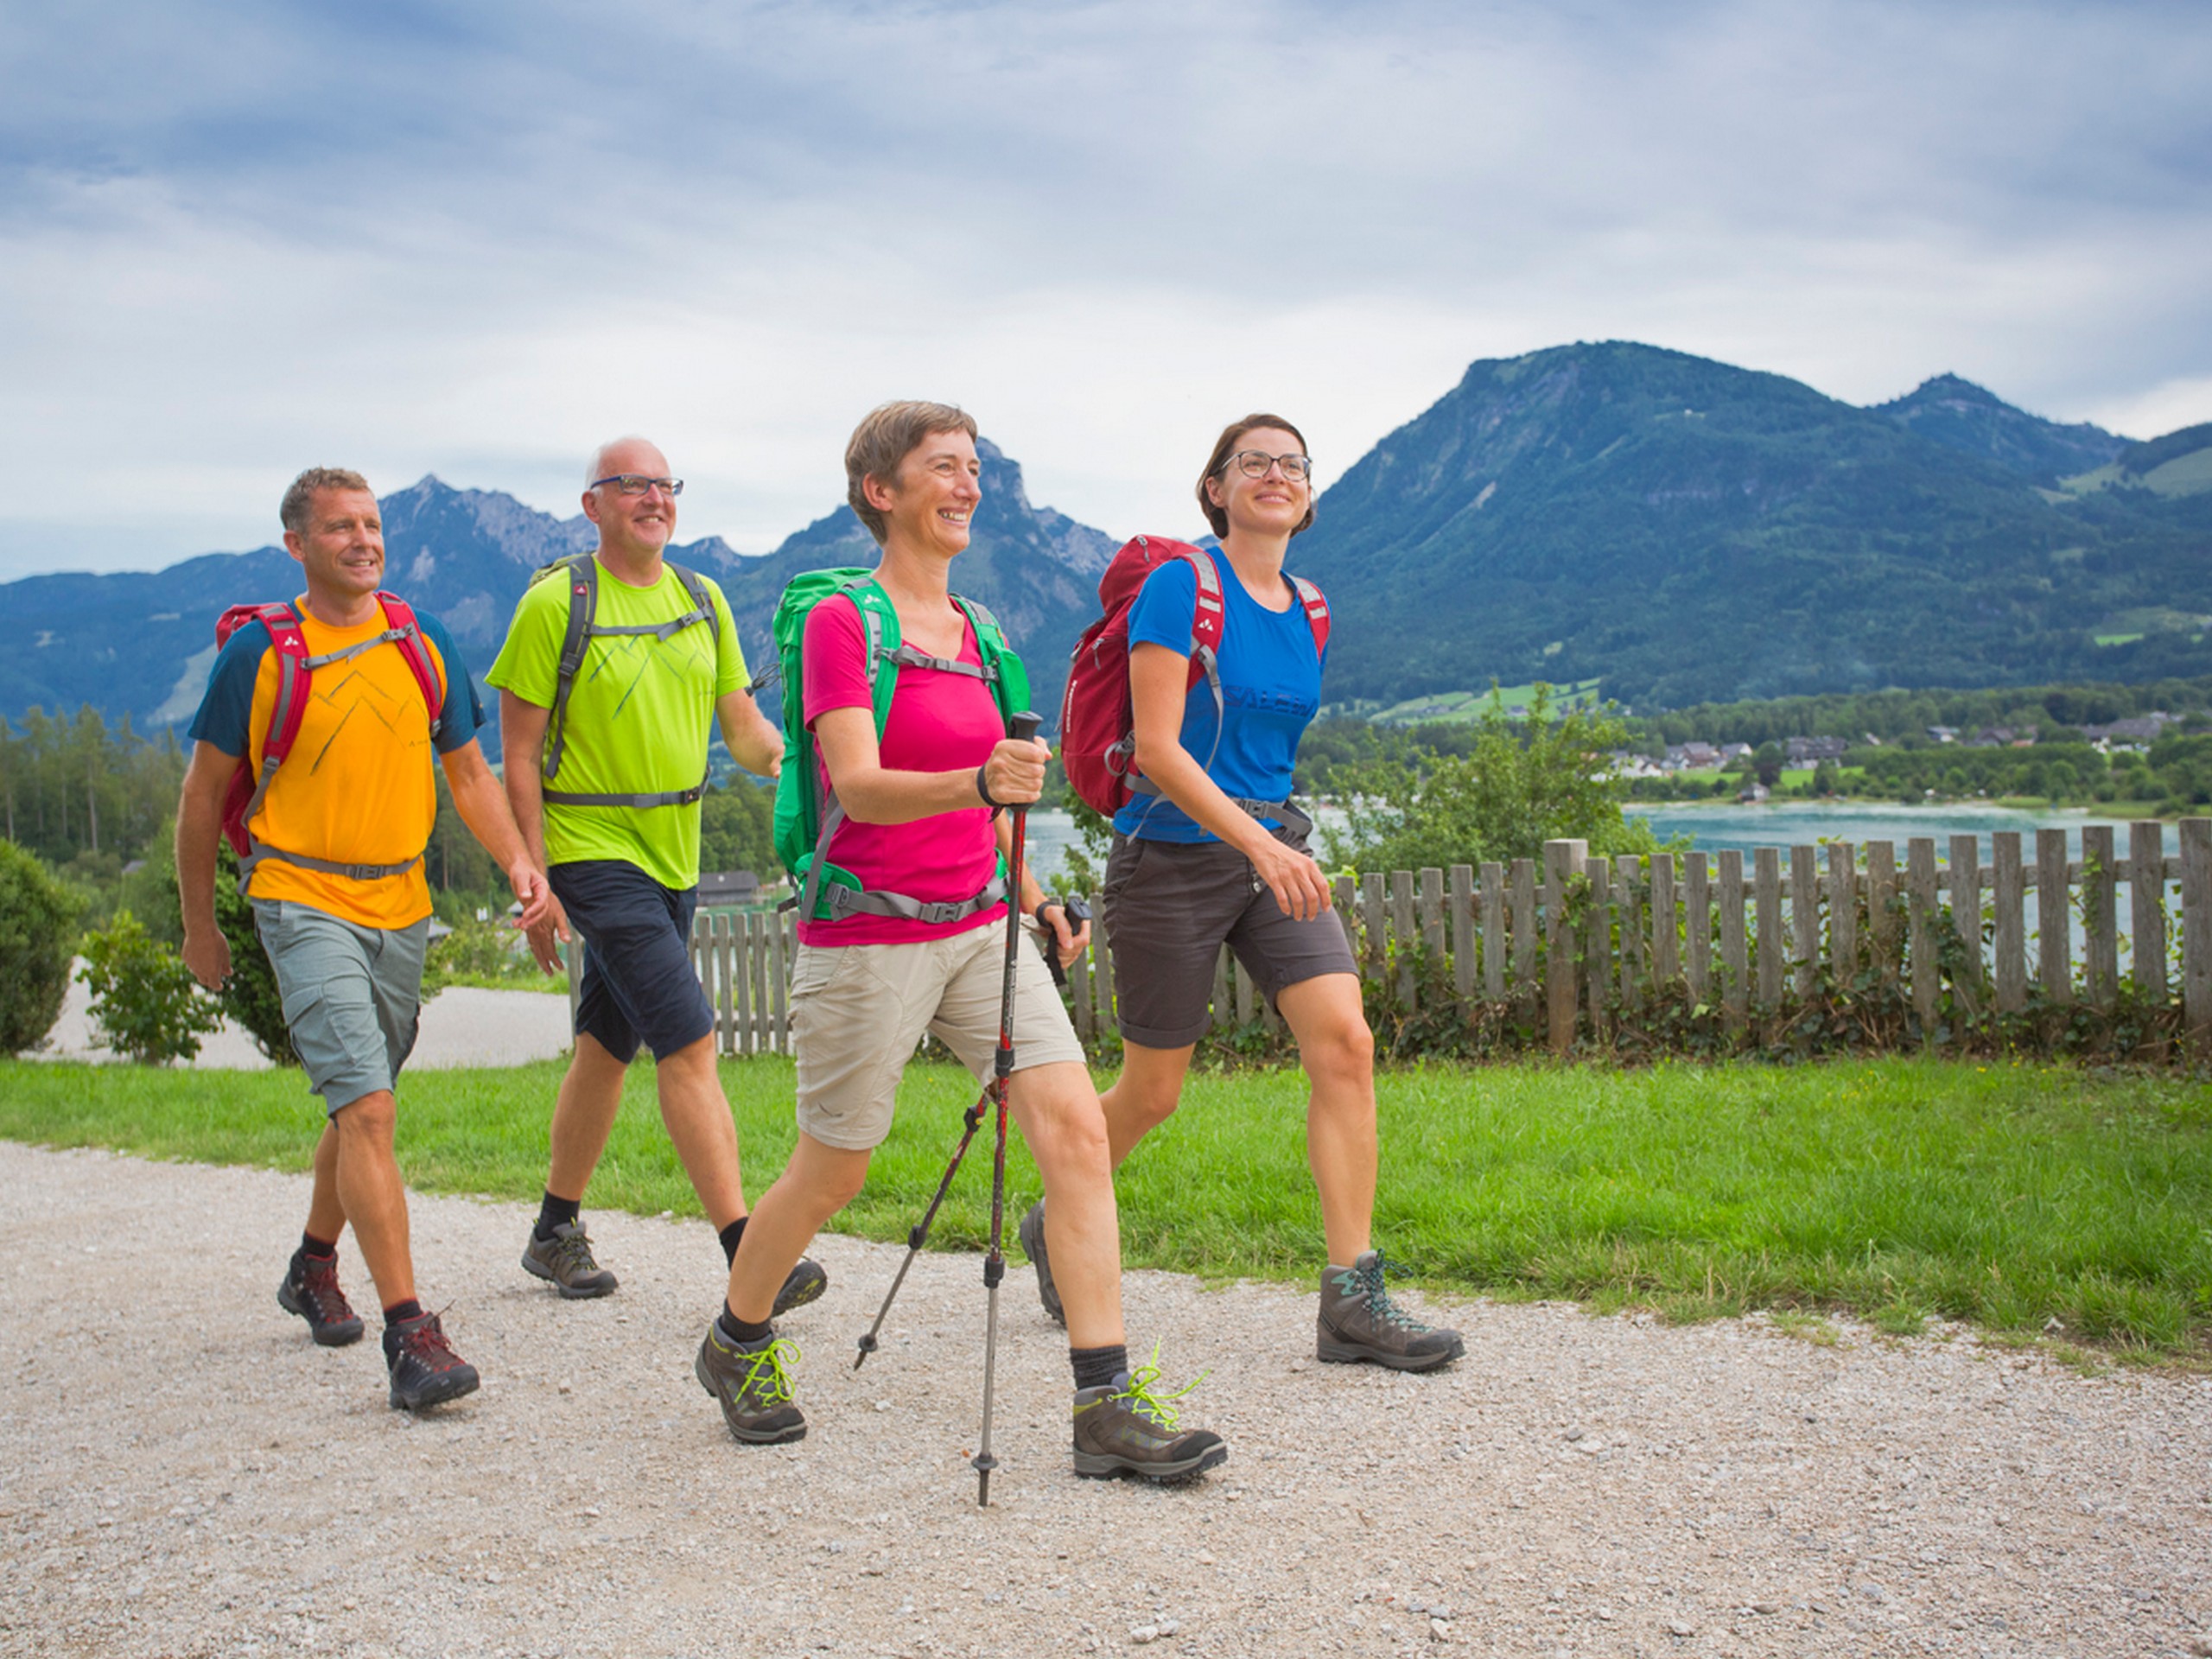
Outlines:
[[[1356,869],[1427,869],[1491,858],[1537,858],[1546,841],[1579,838],[1593,854],[1657,852],[1644,818],[1621,812],[1626,783],[1606,754],[1621,723],[1606,708],[1551,717],[1537,686],[1528,719],[1506,717],[1495,692],[1475,721],[1469,754],[1429,754],[1411,743],[1334,774],[1343,832],[1325,830],[1329,863]]]

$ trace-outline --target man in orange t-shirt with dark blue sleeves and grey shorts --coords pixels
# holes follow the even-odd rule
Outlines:
[[[279,515],[283,544],[307,577],[294,611],[312,695],[290,759],[248,818],[248,880],[292,1046],[327,1121],[314,1148],[307,1228],[276,1301],[325,1347],[361,1338],[336,1263],[338,1234],[352,1221],[385,1310],[392,1405],[411,1411],[478,1385],[476,1367],[453,1354],[438,1316],[416,1301],[407,1188],[392,1155],[394,1084],[416,1040],[429,940],[422,852],[438,814],[431,752],[469,832],[507,872],[524,925],[546,914],[546,885],[476,745],[484,710],[453,641],[434,619],[416,617],[440,690],[431,708],[394,639],[378,602],[385,535],[367,480],[314,467],[285,491]],[[215,925],[223,799],[241,765],[263,774],[276,684],[270,628],[246,624],[217,655],[192,717],[177,889],[184,960],[210,989],[230,978],[230,945]]]

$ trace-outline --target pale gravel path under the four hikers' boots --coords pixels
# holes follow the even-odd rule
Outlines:
[[[1015,1267],[978,1511],[973,1256],[925,1256],[854,1376],[898,1252],[823,1239],[814,1427],[763,1451],[690,1376],[703,1223],[595,1214],[624,1287],[560,1303],[529,1210],[418,1197],[487,1383],[409,1420],[374,1318],[325,1352],[276,1310],[301,1177],[0,1146],[0,1652],[2212,1652],[2208,1378],[1486,1303],[1402,1378],[1314,1365],[1310,1294],[1135,1274],[1232,1444],[1155,1491],[1068,1471]]]

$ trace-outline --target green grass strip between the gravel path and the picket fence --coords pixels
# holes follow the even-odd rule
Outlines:
[[[533,1201],[560,1066],[407,1079],[400,1161],[431,1192]],[[792,1146],[792,1066],[728,1062],[759,1192]],[[843,1232],[902,1239],[973,1084],[916,1064]],[[1303,1279],[1321,1237],[1298,1073],[1197,1075],[1119,1179],[1133,1267]],[[2055,1066],[1829,1066],[1385,1075],[1376,1237],[1429,1287],[1648,1305],[1851,1312],[1885,1332],[1975,1321],[2135,1356],[2212,1338],[2212,1088]],[[0,1064],[0,1137],[305,1168],[319,1108],[299,1073]],[[989,1157],[971,1152],[936,1245],[978,1248]],[[1037,1192],[1015,1146],[1009,1183]],[[697,1214],[633,1071],[593,1206]]]

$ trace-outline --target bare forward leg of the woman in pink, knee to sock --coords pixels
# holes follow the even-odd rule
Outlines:
[[[1075,1062],[1018,1071],[1006,1106],[1044,1177],[1044,1241],[1068,1347],[1113,1347],[1124,1340],[1121,1219],[1091,1073]]]

